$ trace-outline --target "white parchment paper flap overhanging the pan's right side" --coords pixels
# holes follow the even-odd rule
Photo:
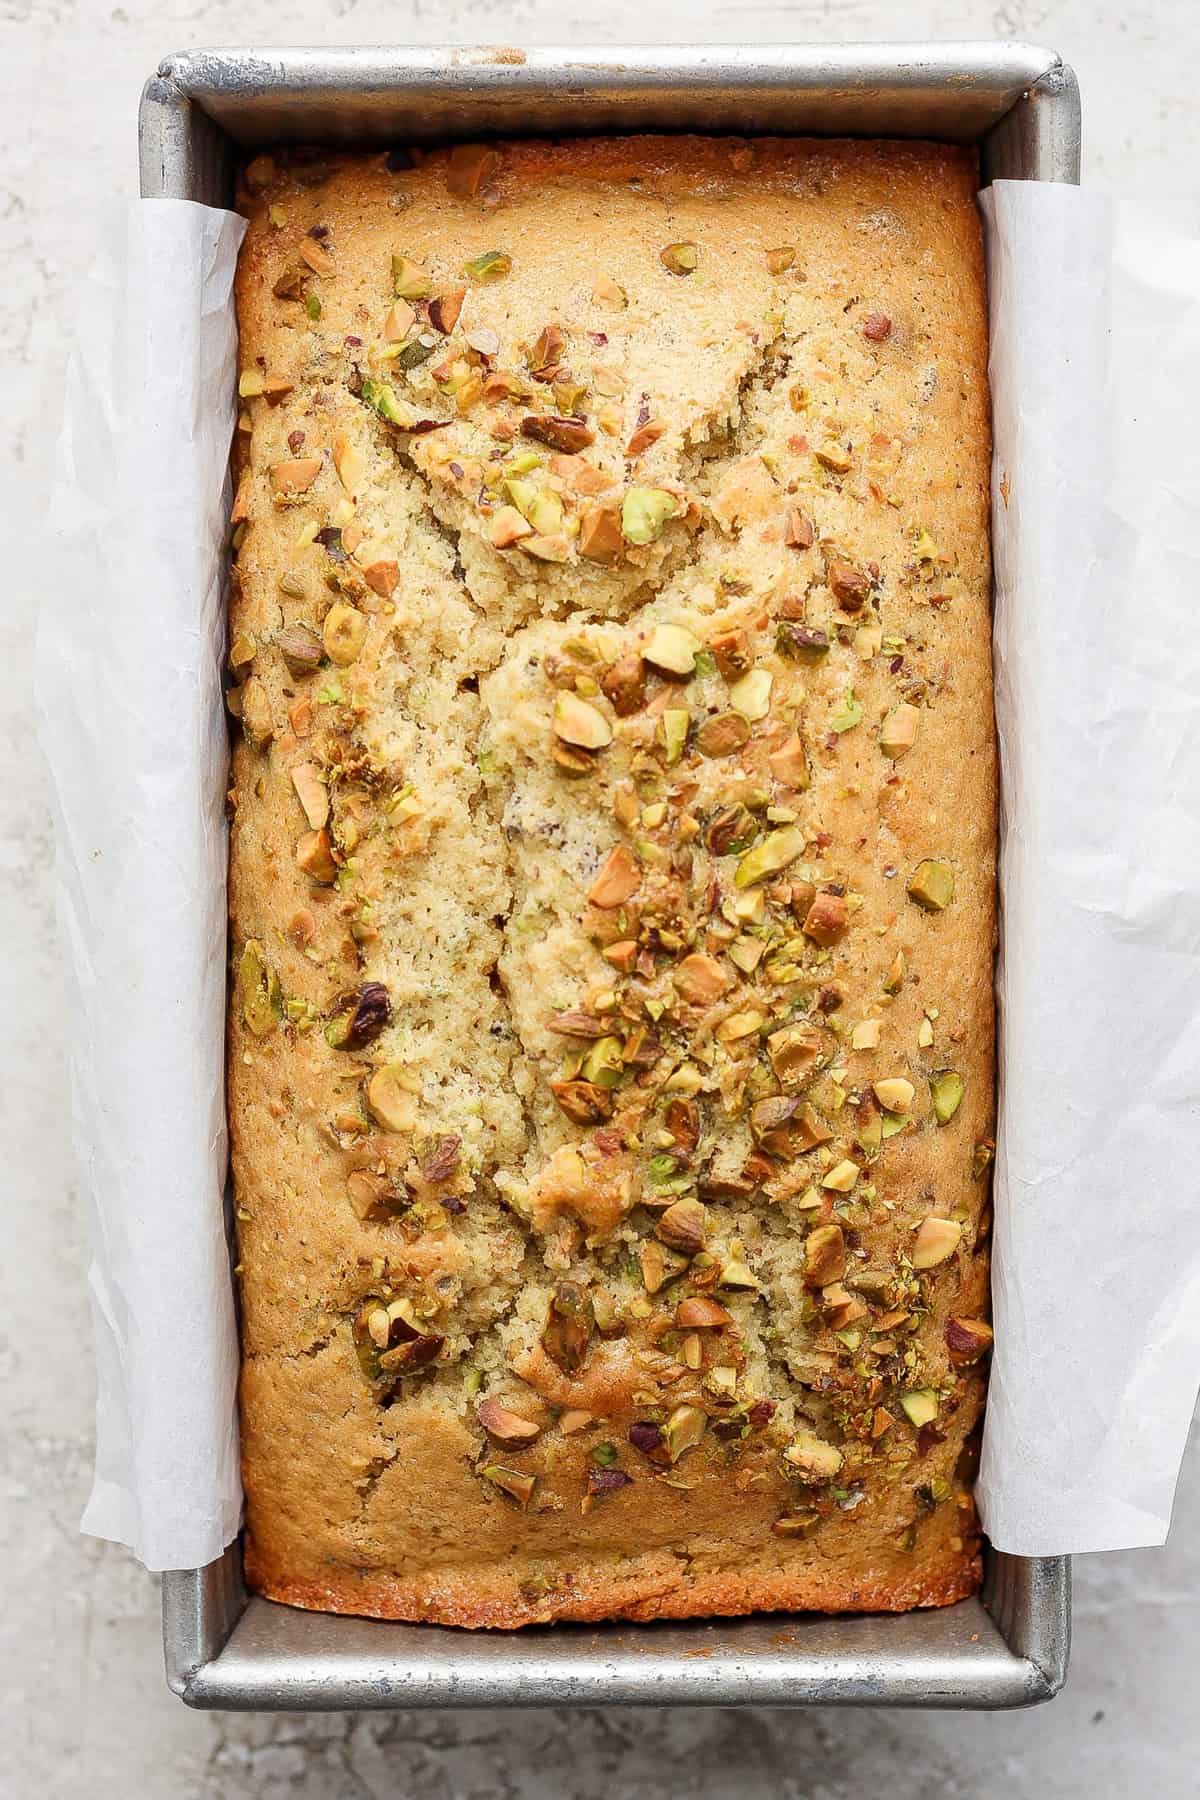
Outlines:
[[[979,1494],[1000,1550],[1164,1541],[1200,1377],[1200,243],[984,196],[1000,1130]]]

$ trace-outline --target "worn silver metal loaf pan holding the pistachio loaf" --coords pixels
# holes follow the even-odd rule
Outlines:
[[[1078,182],[1079,94],[1022,43],[637,50],[198,50],[140,108],[144,196],[228,205],[279,142],[691,130],[975,142],[981,180]],[[759,1616],[470,1633],[248,1597],[241,1548],[162,1579],[167,1681],[191,1706],[1029,1706],[1058,1692],[1070,1564],[988,1553],[979,1598],[900,1616]]]

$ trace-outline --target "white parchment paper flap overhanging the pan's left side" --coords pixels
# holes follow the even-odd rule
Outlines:
[[[245,225],[112,207],[79,293],[38,632],[94,1210],[95,1481],[83,1528],[151,1570],[241,1517],[225,1246],[225,644],[232,275]]]

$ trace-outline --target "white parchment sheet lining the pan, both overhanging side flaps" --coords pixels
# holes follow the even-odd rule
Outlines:
[[[1018,1553],[1160,1543],[1200,1375],[1200,247],[984,200],[1004,767],[997,1354]],[[221,1228],[225,457],[241,223],[113,216],[81,306],[40,688],[95,1208],[83,1526],[149,1568],[239,1523]]]

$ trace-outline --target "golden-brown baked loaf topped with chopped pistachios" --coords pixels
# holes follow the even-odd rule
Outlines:
[[[979,1580],[975,171],[246,171],[246,1571],[459,1625]]]

